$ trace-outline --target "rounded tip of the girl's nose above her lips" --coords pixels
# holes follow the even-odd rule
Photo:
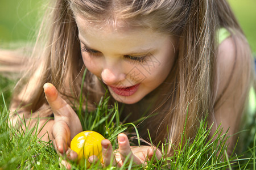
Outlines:
[[[125,79],[125,74],[117,69],[106,68],[101,72],[103,82],[109,86],[118,86]]]

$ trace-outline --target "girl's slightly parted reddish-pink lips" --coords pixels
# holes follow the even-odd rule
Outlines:
[[[114,86],[109,86],[112,91],[119,95],[119,96],[131,96],[133,95],[139,88],[139,84],[135,84],[134,86],[129,86],[129,87],[114,87]]]

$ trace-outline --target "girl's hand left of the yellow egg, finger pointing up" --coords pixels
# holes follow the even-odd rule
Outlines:
[[[71,106],[60,97],[59,92],[51,83],[44,84],[44,93],[54,114],[54,123],[51,129],[53,146],[60,156],[67,155],[69,160],[75,160],[77,154],[69,148],[69,145],[71,139],[82,131],[79,117]],[[67,162],[63,161],[62,163],[70,168]]]

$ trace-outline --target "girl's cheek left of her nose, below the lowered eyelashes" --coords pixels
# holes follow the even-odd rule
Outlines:
[[[98,59],[90,57],[88,54],[82,53],[82,61],[84,61],[85,67],[96,76],[101,75],[101,65]]]

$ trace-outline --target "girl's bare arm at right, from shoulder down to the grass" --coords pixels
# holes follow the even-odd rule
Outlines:
[[[250,82],[250,52],[247,44],[237,37],[229,37],[218,47],[214,88],[214,126],[212,134],[221,124],[228,130],[228,152],[232,152]]]

